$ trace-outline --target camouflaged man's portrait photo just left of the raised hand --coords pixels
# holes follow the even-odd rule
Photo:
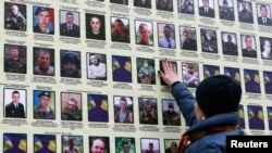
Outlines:
[[[156,85],[156,68],[153,59],[137,58],[138,84]]]

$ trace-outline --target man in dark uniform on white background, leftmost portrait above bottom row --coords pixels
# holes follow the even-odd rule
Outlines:
[[[4,117],[17,117],[25,118],[24,105],[20,102],[20,92],[17,90],[12,91],[12,102],[5,105]]]

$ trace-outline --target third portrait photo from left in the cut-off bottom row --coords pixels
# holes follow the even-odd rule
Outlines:
[[[61,136],[62,152],[69,153],[71,150],[74,152],[84,152],[83,136]]]

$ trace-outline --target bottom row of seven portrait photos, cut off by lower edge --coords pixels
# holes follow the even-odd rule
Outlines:
[[[29,135],[28,135],[29,137]],[[3,133],[3,153],[26,153],[28,143],[26,133]],[[61,144],[57,145],[58,139],[55,135],[33,135],[33,152],[34,153],[83,153],[87,148],[89,153],[136,153],[152,152],[176,153],[180,144],[178,139],[163,139],[164,149],[160,149],[160,139],[158,138],[140,138],[140,148],[136,148],[137,139],[129,137],[115,137],[114,143],[109,137],[89,136],[88,142],[84,142],[83,136],[62,135]],[[111,142],[111,143],[110,143]],[[111,149],[114,146],[114,150]],[[60,146],[60,148],[57,148]],[[60,151],[61,150],[61,151]]]

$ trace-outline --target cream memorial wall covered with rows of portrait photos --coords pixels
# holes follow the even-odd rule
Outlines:
[[[240,128],[272,130],[269,0],[75,1],[1,2],[4,153],[176,152],[187,125],[158,76],[164,59],[193,94],[231,76]]]

